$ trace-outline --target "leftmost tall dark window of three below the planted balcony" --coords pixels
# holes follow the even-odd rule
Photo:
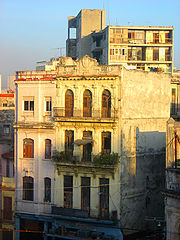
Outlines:
[[[64,176],[64,207],[73,207],[73,177]]]

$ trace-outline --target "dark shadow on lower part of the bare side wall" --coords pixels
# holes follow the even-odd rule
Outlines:
[[[164,217],[166,133],[140,132],[137,127],[135,134],[134,152],[122,156],[121,181],[126,184],[121,186],[121,224],[154,230],[155,223],[147,219]]]

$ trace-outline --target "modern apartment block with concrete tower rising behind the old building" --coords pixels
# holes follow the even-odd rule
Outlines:
[[[97,11],[99,14],[103,11],[102,18],[96,18]],[[96,24],[99,21],[102,28],[95,29],[92,19],[96,20]],[[76,38],[71,39],[68,34],[67,43],[71,44],[66,45],[67,56],[76,59],[87,54],[100,64],[122,64],[145,71],[173,71],[173,27],[105,27],[104,23],[104,10],[83,9],[77,17],[69,17],[68,33],[76,28]],[[88,26],[88,30],[83,35],[84,26]]]

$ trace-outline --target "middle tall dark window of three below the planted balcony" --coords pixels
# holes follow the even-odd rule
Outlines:
[[[81,177],[81,209],[90,212],[90,177]]]

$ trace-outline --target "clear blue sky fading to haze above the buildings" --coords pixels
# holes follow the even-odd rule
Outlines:
[[[105,9],[106,25],[174,26],[174,67],[180,69],[180,0],[0,0],[0,74],[35,70],[65,54],[68,16]]]

